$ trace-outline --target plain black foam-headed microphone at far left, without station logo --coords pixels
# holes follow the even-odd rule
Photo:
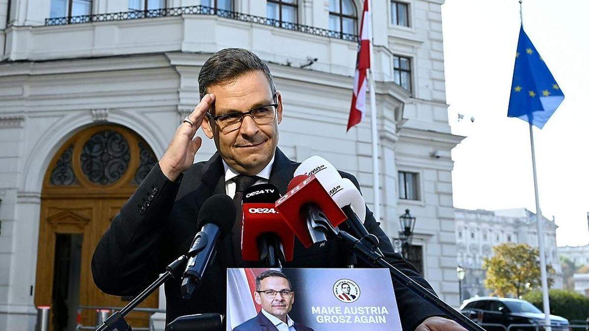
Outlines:
[[[203,281],[204,270],[214,259],[216,244],[229,233],[235,223],[236,210],[233,200],[226,194],[216,194],[206,201],[198,212],[197,224],[201,229],[186,256],[190,257],[182,274],[181,294],[190,299]]]

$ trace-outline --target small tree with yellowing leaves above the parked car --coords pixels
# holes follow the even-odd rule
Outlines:
[[[494,257],[485,258],[483,268],[487,269],[485,286],[498,296],[519,297],[540,287],[540,253],[528,244],[504,243],[493,247]],[[554,273],[547,266],[548,273]],[[552,279],[548,278],[548,286]]]

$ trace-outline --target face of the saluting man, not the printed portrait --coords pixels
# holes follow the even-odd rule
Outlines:
[[[282,96],[277,92],[273,100],[272,90],[262,71],[250,71],[229,84],[211,85],[207,92],[215,95],[211,108],[214,116],[231,112],[247,112],[253,108],[277,103],[276,120],[259,125],[252,117],[245,116],[241,127],[222,132],[215,121],[204,117],[203,131],[213,138],[223,160],[239,173],[254,175],[272,160],[278,144],[278,124],[282,121]]]

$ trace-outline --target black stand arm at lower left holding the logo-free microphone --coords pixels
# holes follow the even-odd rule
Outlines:
[[[178,257],[174,262],[168,264],[166,272],[163,273],[160,278],[151,283],[147,289],[143,290],[138,296],[136,296],[127,306],[124,306],[119,312],[115,312],[109,316],[104,323],[96,331],[132,331],[131,326],[125,321],[125,316],[135,309],[141,302],[147,299],[151,293],[157,290],[161,284],[166,283],[169,279],[180,276],[183,266],[186,264],[188,257],[186,255]]]

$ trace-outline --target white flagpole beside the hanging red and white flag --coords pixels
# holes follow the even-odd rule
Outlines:
[[[370,22],[368,22],[368,27],[370,29],[370,69],[366,69],[366,76],[368,76],[368,81],[370,82],[370,128],[372,129],[372,189],[373,189],[373,196],[374,196],[374,207],[373,213],[374,218],[377,222],[380,221],[380,176],[379,176],[379,166],[378,166],[378,123],[376,123],[376,93],[375,93],[375,84],[374,84],[374,75],[372,74],[372,66],[374,65],[374,51],[372,48],[372,44],[374,38],[372,37],[372,0],[365,0],[368,1],[368,12]]]

